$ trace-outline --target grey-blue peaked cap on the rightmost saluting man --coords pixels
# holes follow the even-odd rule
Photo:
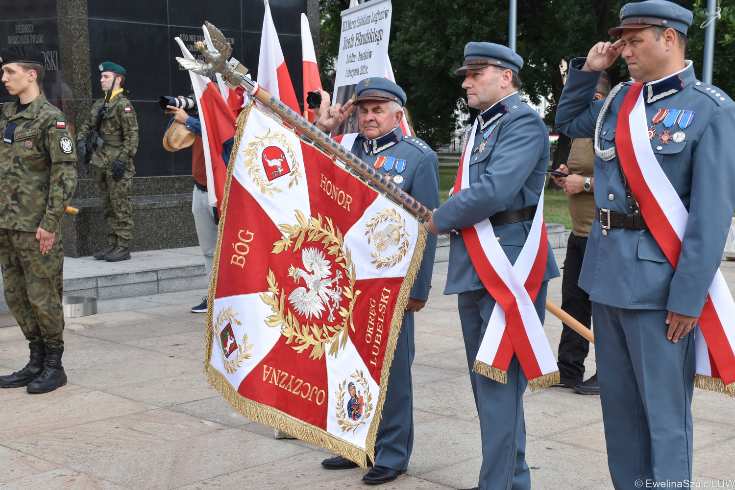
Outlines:
[[[620,9],[620,26],[610,29],[611,36],[623,35],[623,29],[641,29],[649,26],[664,26],[686,34],[692,25],[692,11],[673,1],[647,0],[625,4]]]

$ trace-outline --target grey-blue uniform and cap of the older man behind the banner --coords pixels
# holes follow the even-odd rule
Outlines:
[[[358,102],[391,100],[403,107],[406,101],[406,93],[401,87],[383,78],[361,80],[356,86],[355,93]],[[405,135],[400,126],[375,140],[370,140],[359,133],[350,151],[373,167],[380,158],[384,162],[377,170],[391,179],[393,184],[427,209],[439,206],[439,158],[420,138]],[[390,170],[386,170],[386,166],[390,166]],[[429,298],[436,250],[437,236],[430,233],[426,238],[426,249],[409,298],[417,300]],[[413,450],[411,366],[414,355],[414,314],[406,311],[390,365],[383,418],[376,436],[374,461],[375,466],[383,466],[399,473],[406,472]]]

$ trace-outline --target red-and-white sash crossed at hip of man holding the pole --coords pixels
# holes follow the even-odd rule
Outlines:
[[[470,187],[470,157],[476,129],[477,121],[467,138],[453,194]],[[542,190],[531,231],[514,265],[495,238],[490,220],[462,229],[472,264],[482,284],[497,302],[473,370],[506,383],[506,372],[515,354],[531,390],[559,383],[556,359],[534,308],[548,256],[543,198]]]

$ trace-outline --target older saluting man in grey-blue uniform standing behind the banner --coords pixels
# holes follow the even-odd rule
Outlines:
[[[376,167],[427,208],[439,206],[437,154],[420,138],[404,134],[399,126],[404,117],[401,108],[406,103],[404,90],[388,79],[370,78],[357,83],[355,94],[356,104],[348,101],[344,107],[340,104],[329,107],[329,94],[322,90],[322,115],[316,126],[328,133],[354,111],[355,105],[358,106],[360,132],[350,151],[363,162]],[[336,140],[341,139],[336,137]],[[429,235],[390,366],[383,419],[375,443],[375,466],[362,478],[366,483],[395,480],[406,472],[409,464],[414,436],[411,381],[415,353],[413,314],[422,309],[429,298],[436,248],[437,237]],[[342,456],[326,459],[322,465],[328,469],[357,466]]]

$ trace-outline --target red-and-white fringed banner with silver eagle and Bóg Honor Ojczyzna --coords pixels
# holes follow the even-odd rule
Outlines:
[[[426,233],[248,104],[207,297],[207,381],[245,417],[365,467]]]

